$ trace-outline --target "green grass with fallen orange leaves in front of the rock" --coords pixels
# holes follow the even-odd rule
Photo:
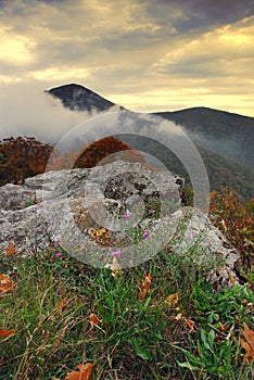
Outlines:
[[[116,277],[53,250],[1,257],[0,273],[17,284],[0,299],[0,328],[16,332],[0,338],[1,380],[62,380],[87,362],[96,364],[94,380],[252,379],[239,344],[243,322],[253,329],[252,291],[215,292],[170,252]],[[142,302],[138,282],[148,273]],[[179,301],[170,307],[164,301],[174,293]],[[99,327],[91,328],[91,313]],[[178,313],[195,322],[193,332],[174,319]]]

